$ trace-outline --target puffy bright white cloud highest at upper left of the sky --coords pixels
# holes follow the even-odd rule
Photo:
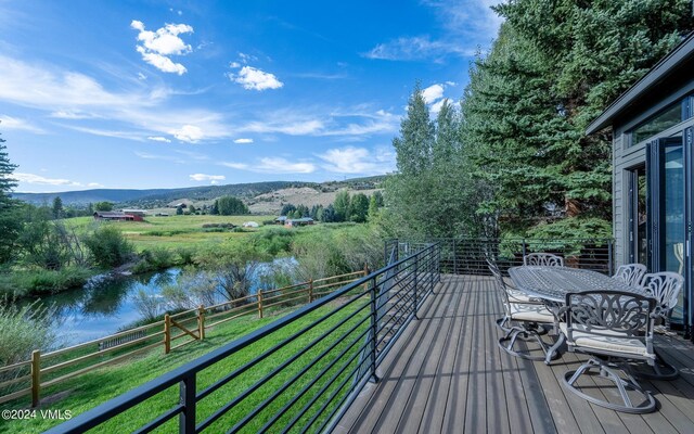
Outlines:
[[[156,31],[145,30],[141,21],[133,20],[130,27],[139,30],[138,40],[142,44],[136,50],[142,55],[142,60],[164,73],[183,75],[185,66],[169,59],[170,55],[185,55],[193,51],[179,35],[192,34],[193,27],[188,24],[167,24]]]

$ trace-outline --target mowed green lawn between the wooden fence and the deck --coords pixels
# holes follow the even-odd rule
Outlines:
[[[275,369],[280,363],[287,360],[293,355],[297,354],[301,349],[307,349],[310,343],[320,334],[325,333],[330,328],[336,327],[340,320],[344,320],[350,314],[357,310],[357,307],[362,306],[363,301],[356,302],[352,306],[349,306],[340,310],[335,316],[331,317],[327,321],[311,329],[307,333],[301,334],[296,339],[292,339],[291,342],[278,353],[271,357],[260,361],[257,366],[250,370],[239,375],[236,379],[229,382],[227,385],[220,387],[211,395],[203,399],[197,405],[197,423],[202,422],[206,417],[214,413],[223,404],[229,403],[234,397],[257,380],[264,378]],[[358,306],[357,306],[358,305]],[[285,327],[284,329],[277,331],[262,340],[257,341],[250,346],[240,350],[239,353],[228,357],[227,359],[207,368],[197,376],[197,391],[202,391],[206,386],[213,384],[219,379],[232,372],[234,369],[248,362],[256,356],[264,354],[268,348],[277,345],[278,343],[292,336],[293,333],[304,329],[317,318],[325,315],[335,306],[324,306],[317,311],[308,315],[301,320]],[[208,336],[205,341],[194,342],[179,349],[174,350],[171,354],[165,356],[162,350],[154,350],[152,354],[142,356],[140,358],[130,360],[125,363],[99,369],[92,372],[85,373],[79,378],[67,380],[56,386],[48,387],[42,392],[43,399],[41,409],[43,410],[69,410],[73,416],[79,414],[86,410],[89,410],[99,404],[102,404],[111,398],[114,398],[133,387],[143,384],[152,379],[168,372],[176,367],[179,367],[188,361],[191,361],[211,349],[224,345],[236,337],[240,337],[246,333],[259,329],[262,326],[275,320],[278,317],[257,319],[254,317],[244,317],[235,321],[230,321],[218,326],[217,328],[208,332]],[[325,396],[319,398],[317,403],[310,403],[312,396],[316,395],[318,390],[323,386],[324,382],[318,381],[311,385],[311,380],[318,378],[321,371],[325,371],[325,378],[336,376],[338,380],[345,380],[347,384],[338,390],[338,387],[329,387],[327,392],[335,392],[336,394],[344,395],[347,393],[347,388],[351,385],[350,376],[347,373],[338,372],[340,365],[349,367],[348,370],[354,369],[356,360],[347,361],[347,359],[356,354],[357,346],[361,345],[363,339],[359,337],[359,333],[362,333],[368,327],[367,311],[359,311],[352,319],[348,320],[345,324],[337,327],[337,329],[330,334],[330,339],[320,341],[316,346],[311,347],[306,354],[298,357],[291,362],[286,369],[284,369],[277,376],[272,378],[268,383],[257,388],[249,394],[243,400],[239,403],[230,412],[224,414],[220,420],[215,422],[209,432],[222,432],[227,431],[234,423],[239,422],[242,418],[248,416],[254,408],[265,399],[267,399],[272,393],[282,387],[288,378],[297,375],[304,370],[309,360],[312,360],[319,356],[321,352],[327,350],[329,356],[320,359],[316,366],[307,369],[298,381],[288,386],[286,391],[274,401],[270,403],[268,408],[258,412],[258,414],[248,421],[248,424],[242,430],[243,432],[256,432],[265,423],[271,420],[272,416],[285,405],[287,397],[295,396],[303,387],[308,387],[308,393],[299,399],[299,401],[288,409],[286,414],[275,420],[274,427],[286,426],[286,424],[297,414],[301,408],[310,408],[309,412],[301,418],[298,418],[298,423],[294,426],[295,432],[304,432],[301,426],[308,424],[312,417],[317,417],[317,420],[324,421],[327,414],[312,414],[317,406],[320,406],[324,401]],[[340,339],[350,328],[355,330],[350,332],[347,339]],[[351,341],[356,341],[357,345],[350,347]],[[332,348],[330,348],[333,346]],[[340,352],[345,352],[345,355],[339,356]],[[107,423],[101,425],[94,432],[106,433],[124,433],[131,432],[146,422],[153,420],[158,414],[165,412],[167,409],[176,405],[178,401],[178,385],[150,398],[145,404],[140,405],[133,409],[126,411],[125,413],[114,418]],[[327,394],[326,394],[327,395]],[[28,400],[17,400],[11,403],[11,405],[1,406],[0,409],[9,408],[28,408]],[[334,408],[334,405],[333,405]],[[177,432],[178,418],[167,422],[160,432]],[[15,421],[1,421],[0,420],[0,433],[39,433],[50,426],[53,426],[61,421],[42,419],[37,417],[30,420],[15,420]],[[316,424],[311,425],[314,431]],[[271,430],[272,431],[272,430]],[[157,431],[159,432],[159,431]]]

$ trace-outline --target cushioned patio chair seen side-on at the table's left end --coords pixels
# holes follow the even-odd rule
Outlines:
[[[497,320],[497,326],[504,332],[504,336],[499,339],[499,346],[512,356],[528,360],[545,360],[551,344],[542,341],[541,335],[547,333],[544,326],[554,324],[554,316],[539,301],[534,301],[534,303],[518,302],[514,292],[520,293],[520,291],[512,290],[506,285],[494,263],[488,260],[488,265],[494,276],[494,286],[502,296],[504,309],[504,316]],[[531,299],[525,294],[523,296],[526,299]],[[534,356],[529,350],[515,349],[518,340],[537,342],[542,355]]]

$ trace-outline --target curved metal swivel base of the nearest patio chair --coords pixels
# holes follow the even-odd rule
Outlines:
[[[597,368],[600,370],[601,376],[604,376],[606,380],[615,384],[624,404],[614,404],[604,399],[599,399],[594,396],[587,395],[576,386],[576,382],[578,381],[579,376],[583,373],[590,372],[590,370],[593,368]],[[581,365],[576,371],[566,372],[563,380],[564,385],[570,392],[601,407],[628,413],[647,413],[655,410],[656,400],[653,395],[651,395],[651,392],[644,391],[635,381],[635,379],[628,372],[625,371],[625,374],[627,375],[626,379],[619,376],[616,370],[612,368],[607,361],[591,358],[586,363]],[[641,398],[643,398],[643,400],[640,404],[634,405],[627,390],[634,391]]]

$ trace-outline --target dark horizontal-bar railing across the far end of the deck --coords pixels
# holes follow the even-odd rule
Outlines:
[[[529,253],[553,253],[564,258],[567,267],[613,275],[614,241],[612,239],[435,239],[441,246],[441,272],[451,275],[488,275],[485,254],[492,255],[501,270],[523,265]],[[413,252],[421,243],[387,240],[387,248],[398,246],[399,254]]]

